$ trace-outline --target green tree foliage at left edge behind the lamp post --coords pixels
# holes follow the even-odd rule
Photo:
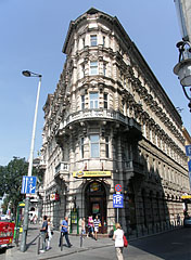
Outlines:
[[[25,158],[13,157],[8,166],[0,166],[0,196],[7,195],[3,210],[10,205],[14,216],[16,214],[18,203],[25,198],[21,191],[23,176],[27,176],[27,173],[28,162]]]

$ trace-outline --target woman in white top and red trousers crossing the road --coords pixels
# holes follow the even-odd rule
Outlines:
[[[115,240],[115,250],[118,260],[124,260],[123,250],[124,250],[124,231],[119,223],[115,224],[116,231],[114,231],[113,239]]]

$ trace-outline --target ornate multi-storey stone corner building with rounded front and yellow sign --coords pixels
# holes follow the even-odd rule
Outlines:
[[[98,213],[110,232],[122,184],[126,232],[167,229],[190,192],[180,115],[116,17],[90,9],[71,22],[63,53],[43,107],[43,213],[58,227],[69,216],[72,232],[76,209]]]

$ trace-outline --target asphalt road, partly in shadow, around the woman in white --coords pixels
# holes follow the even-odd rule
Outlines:
[[[66,256],[64,259],[113,260],[116,259],[116,257],[114,247],[110,246]],[[124,249],[124,259],[191,260],[191,229],[174,230],[164,234],[130,242],[128,248]]]

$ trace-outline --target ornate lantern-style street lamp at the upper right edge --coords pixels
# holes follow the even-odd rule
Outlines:
[[[191,96],[189,96],[186,89],[187,87],[191,87],[191,43],[189,41],[180,41],[177,43],[177,48],[179,49],[179,61],[174,67],[174,73],[178,75],[183,93],[190,101],[189,107],[191,112]]]

